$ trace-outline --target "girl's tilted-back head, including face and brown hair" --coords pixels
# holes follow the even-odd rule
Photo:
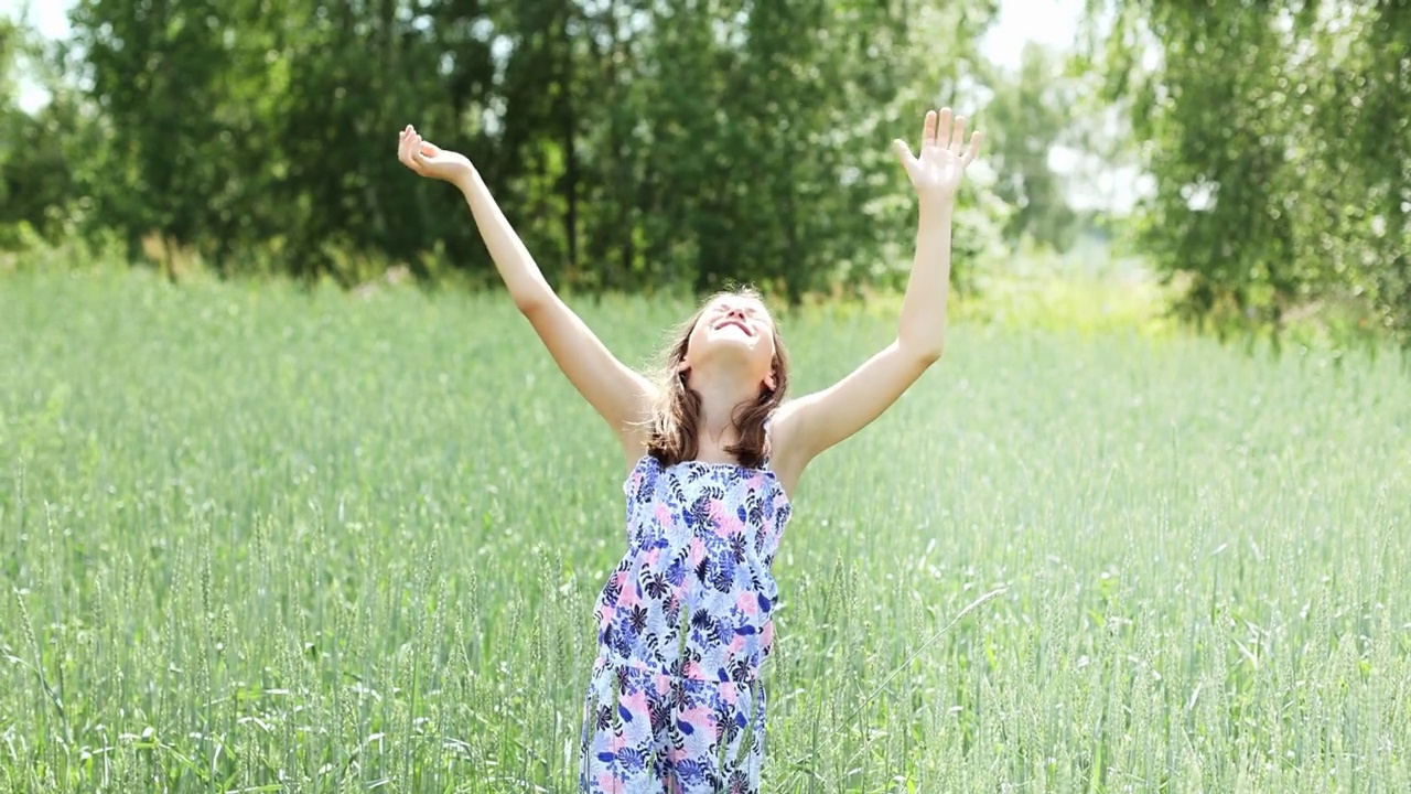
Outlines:
[[[665,465],[693,461],[701,421],[701,393],[711,381],[742,394],[735,410],[735,444],[725,451],[741,465],[761,466],[768,454],[765,421],[789,389],[789,352],[761,295],[751,288],[717,292],[677,329],[665,352],[660,396],[648,452]],[[738,389],[734,387],[738,384]]]

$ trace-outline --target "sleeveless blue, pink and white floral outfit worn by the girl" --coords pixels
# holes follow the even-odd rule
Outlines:
[[[597,599],[583,794],[758,794],[770,574],[792,507],[752,469],[645,455],[622,483],[628,550]]]

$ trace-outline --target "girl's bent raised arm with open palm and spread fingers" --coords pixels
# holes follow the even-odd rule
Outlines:
[[[983,136],[964,147],[965,119],[950,107],[926,114],[921,155],[904,141],[893,147],[920,201],[916,259],[902,302],[896,340],[823,391],[779,408],[773,422],[775,465],[793,480],[809,462],[882,415],[945,349],[945,301],[951,280],[951,216],[965,167]]]

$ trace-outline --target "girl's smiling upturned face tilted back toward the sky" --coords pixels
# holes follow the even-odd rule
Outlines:
[[[775,389],[775,321],[758,298],[721,295],[701,309],[682,369],[717,362],[742,369],[765,389]]]

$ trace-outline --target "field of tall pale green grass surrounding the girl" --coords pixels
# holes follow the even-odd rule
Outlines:
[[[1403,366],[958,324],[793,494],[765,791],[1411,790]],[[625,463],[507,300],[10,274],[0,463],[0,791],[573,790]]]

